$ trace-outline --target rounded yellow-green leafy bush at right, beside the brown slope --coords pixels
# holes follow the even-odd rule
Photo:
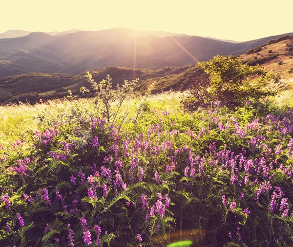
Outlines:
[[[215,101],[233,108],[243,105],[247,99],[275,95],[265,88],[272,75],[258,65],[243,64],[240,57],[215,56],[208,62],[198,63],[196,68],[196,71],[203,68],[204,72],[194,74],[189,94],[182,100],[187,110],[206,108]]]

